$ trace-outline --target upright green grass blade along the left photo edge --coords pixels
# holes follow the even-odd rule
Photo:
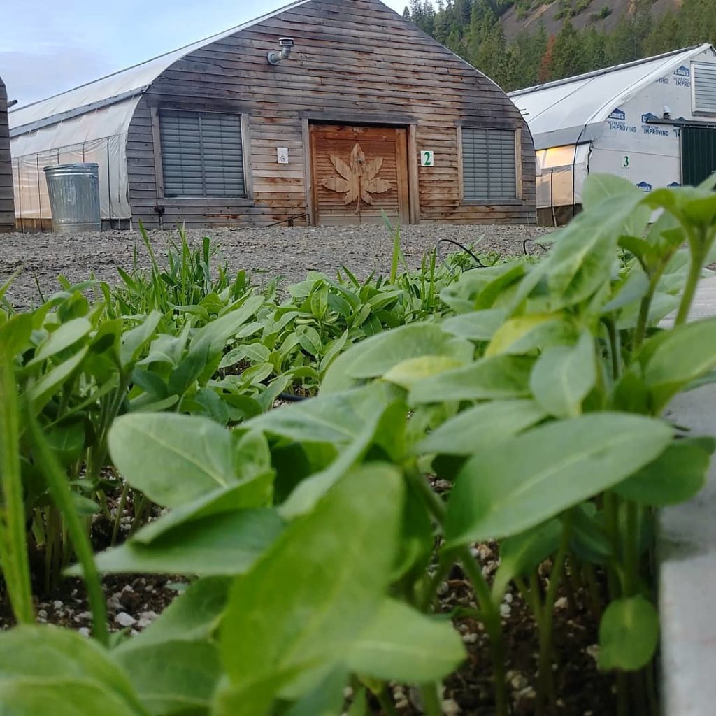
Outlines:
[[[0,513],[0,564],[15,619],[20,624],[32,624],[35,619],[20,470],[20,419],[11,360],[4,351],[0,359],[0,474],[4,503]]]

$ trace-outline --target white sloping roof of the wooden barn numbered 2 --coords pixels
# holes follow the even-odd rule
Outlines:
[[[68,89],[67,92],[61,92],[59,95],[49,97],[47,100],[39,100],[38,102],[32,102],[30,105],[24,105],[24,107],[17,107],[9,112],[10,135],[11,137],[17,137],[28,132],[37,131],[42,127],[56,125],[58,122],[86,115],[89,112],[105,110],[113,105],[121,105],[115,111],[102,112],[102,117],[107,119],[105,129],[95,127],[95,130],[99,131],[97,137],[119,134],[125,121],[128,125],[131,120],[138,97],[165,69],[168,69],[178,59],[185,57],[185,55],[196,49],[205,47],[224,37],[229,37],[236,32],[241,32],[241,30],[248,29],[263,20],[304,5],[309,1],[297,0],[274,12],[257,17],[198,42],[193,42],[185,47],[180,47],[180,49],[176,49],[173,52],[167,52],[146,62],[135,64],[133,67],[127,67],[127,69],[122,69],[120,72],[108,74],[107,77],[95,79],[94,82]],[[126,126],[124,131],[126,131]],[[96,137],[80,136],[78,141],[89,138]]]

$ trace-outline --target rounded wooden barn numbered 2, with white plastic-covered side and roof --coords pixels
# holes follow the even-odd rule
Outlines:
[[[105,226],[536,221],[520,112],[379,0],[300,0],[10,117],[24,228],[76,161]]]

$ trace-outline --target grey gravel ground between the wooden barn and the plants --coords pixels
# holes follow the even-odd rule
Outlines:
[[[481,251],[497,251],[503,256],[523,252],[526,238],[538,238],[550,231],[537,226],[455,226],[424,224],[402,228],[402,248],[410,265],[420,264],[422,256],[440,238],[460,243],[479,242]],[[158,255],[166,253],[175,232],[150,231]],[[190,241],[211,236],[221,258],[234,271],[246,269],[281,274],[286,281],[301,281],[306,271],[334,271],[342,264],[359,276],[370,271],[388,271],[392,237],[383,226],[338,226],[295,228],[208,228],[188,231]],[[57,276],[84,281],[90,273],[97,279],[117,281],[116,266],[130,269],[132,253],[140,236],[137,231],[102,233],[10,233],[0,237],[0,283],[15,271],[21,274],[7,292],[18,308],[37,302],[37,284],[45,294],[57,288]],[[450,246],[445,247],[447,253]],[[139,246],[139,261],[148,265],[145,248]]]

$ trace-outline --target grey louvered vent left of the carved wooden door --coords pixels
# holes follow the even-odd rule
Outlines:
[[[245,196],[241,117],[163,110],[159,133],[165,196]]]

